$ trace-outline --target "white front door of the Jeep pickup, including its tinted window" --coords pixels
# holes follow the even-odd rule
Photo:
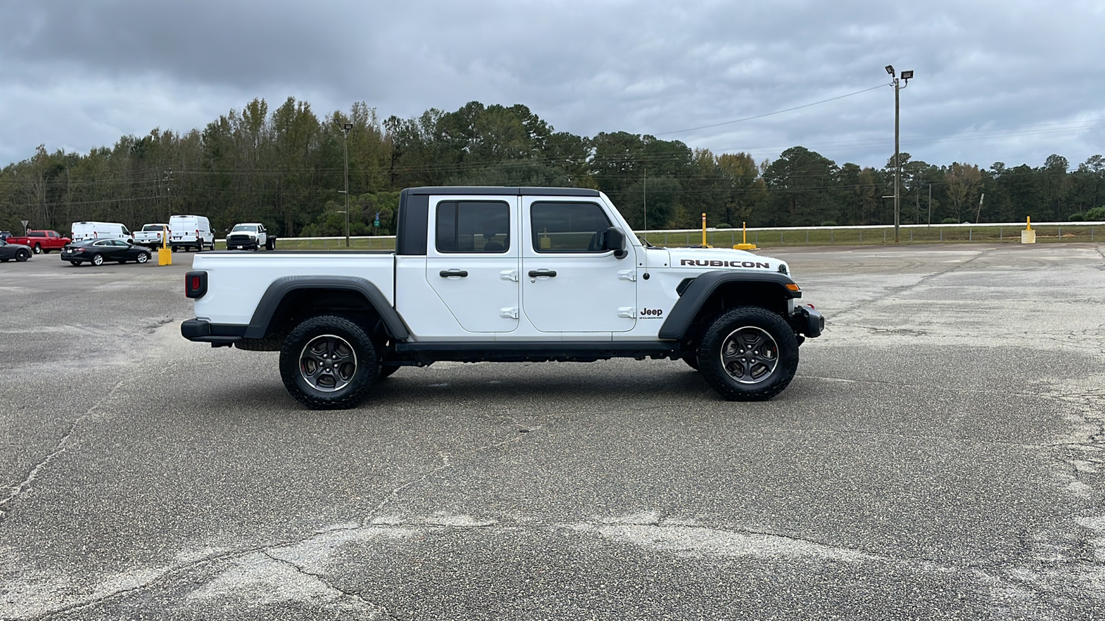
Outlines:
[[[633,250],[602,249],[612,225],[593,200],[526,198],[522,305],[543,333],[620,333],[636,324]]]

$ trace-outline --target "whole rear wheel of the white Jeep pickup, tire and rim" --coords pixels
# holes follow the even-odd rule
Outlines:
[[[338,315],[316,315],[292,329],[280,351],[284,387],[313,410],[343,410],[357,403],[380,376],[368,333]]]

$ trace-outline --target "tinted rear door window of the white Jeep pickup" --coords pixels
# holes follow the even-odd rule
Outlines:
[[[511,207],[503,201],[438,203],[438,252],[506,252]]]

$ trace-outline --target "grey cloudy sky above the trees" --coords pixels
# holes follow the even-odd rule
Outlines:
[[[1102,0],[0,0],[0,166],[288,96],[884,166],[892,64],[914,159],[1074,167],[1105,152],[1103,51]]]

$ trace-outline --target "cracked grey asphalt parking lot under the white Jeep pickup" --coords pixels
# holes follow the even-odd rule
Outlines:
[[[404,368],[304,410],[169,267],[0,265],[2,619],[1105,618],[1103,245],[766,251],[825,314],[682,361]]]

